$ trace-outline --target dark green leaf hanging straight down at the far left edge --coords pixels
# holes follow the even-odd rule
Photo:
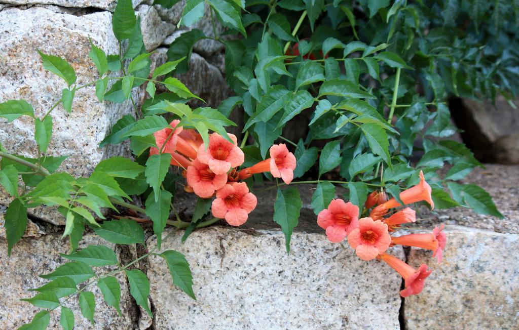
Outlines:
[[[4,214],[5,235],[7,237],[7,255],[12,247],[22,238],[27,227],[27,209],[20,199],[13,199]]]

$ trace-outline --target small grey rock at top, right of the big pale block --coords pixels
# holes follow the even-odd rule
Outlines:
[[[140,5],[136,11],[141,17],[142,39],[147,51],[159,47],[162,41],[175,31],[173,24],[162,21],[155,7]]]

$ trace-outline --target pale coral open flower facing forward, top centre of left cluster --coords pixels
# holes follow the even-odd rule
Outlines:
[[[201,144],[198,147],[198,160],[209,165],[209,168],[215,174],[226,174],[231,167],[240,166],[243,164],[245,155],[240,148],[236,136],[229,134],[233,143],[227,141],[218,133],[213,133],[209,136],[209,146]]]

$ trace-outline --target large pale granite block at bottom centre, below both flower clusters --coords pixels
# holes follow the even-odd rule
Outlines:
[[[398,274],[324,234],[295,233],[289,255],[275,230],[211,227],[185,243],[182,234],[162,248],[186,255],[197,300],[175,288],[165,262],[152,257],[147,275],[156,328],[400,328]]]

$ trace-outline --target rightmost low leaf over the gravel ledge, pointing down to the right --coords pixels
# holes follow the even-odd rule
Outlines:
[[[456,182],[447,182],[447,186],[455,196],[454,199],[456,199],[456,196],[460,196],[463,202],[475,212],[504,218],[503,214],[497,210],[492,197],[483,188],[475,184],[458,184]],[[456,202],[459,202],[459,200],[456,199]]]

